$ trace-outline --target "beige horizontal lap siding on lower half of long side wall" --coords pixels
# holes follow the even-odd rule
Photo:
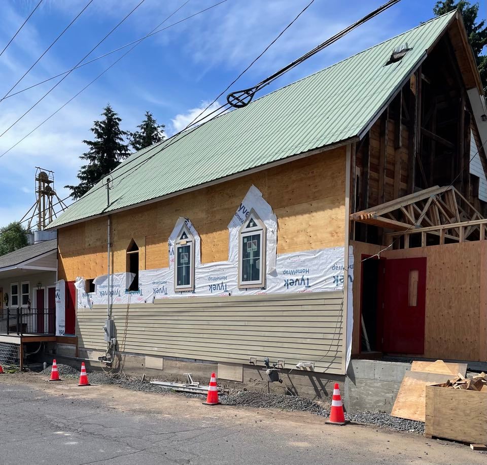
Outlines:
[[[122,352],[249,363],[257,357],[315,362],[341,373],[342,292],[167,299],[115,305]],[[106,307],[78,309],[79,347],[105,349]]]

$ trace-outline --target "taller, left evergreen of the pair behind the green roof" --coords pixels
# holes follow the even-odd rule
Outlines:
[[[80,156],[82,160],[88,161],[78,172],[80,183],[77,186],[64,186],[71,189],[74,199],[82,197],[130,154],[128,145],[124,144],[124,137],[128,132],[120,129],[122,119],[113,111],[110,104],[103,109],[101,116],[103,119],[94,121],[91,128],[95,140],[83,141],[89,147],[89,151]]]

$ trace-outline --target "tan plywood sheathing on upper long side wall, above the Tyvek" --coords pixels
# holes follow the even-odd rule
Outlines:
[[[168,237],[179,216],[201,237],[203,263],[228,259],[228,229],[254,184],[277,216],[277,253],[343,246],[345,147],[111,215],[113,272],[124,272],[133,238],[140,269],[168,267]],[[59,278],[107,273],[107,218],[58,230]]]

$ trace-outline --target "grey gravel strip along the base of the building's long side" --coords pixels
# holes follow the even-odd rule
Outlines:
[[[59,363],[57,366],[60,378],[78,379],[80,372],[75,368]],[[49,376],[51,367],[46,368],[41,375]],[[133,391],[152,392],[167,394],[174,390],[151,384],[147,381],[142,382],[140,378],[121,377],[101,372],[88,373],[90,384],[114,384],[124,389]],[[186,397],[204,398],[204,394],[181,393]],[[229,394],[220,394],[220,402],[223,405],[254,407],[265,409],[279,409],[286,411],[308,412],[322,417],[330,415],[330,406],[319,404],[305,397],[284,395],[284,394],[264,394],[262,392],[237,391]],[[345,418],[356,423],[374,424],[381,428],[394,429],[397,431],[409,431],[410,433],[424,434],[425,424],[422,421],[406,420],[396,418],[386,412],[359,412],[354,414],[345,413]]]

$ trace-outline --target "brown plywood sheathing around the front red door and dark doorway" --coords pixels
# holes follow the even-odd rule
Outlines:
[[[360,345],[360,274],[362,254],[379,246],[354,246],[354,341]],[[427,358],[487,359],[487,241],[388,250],[387,259],[426,257],[425,353]]]

